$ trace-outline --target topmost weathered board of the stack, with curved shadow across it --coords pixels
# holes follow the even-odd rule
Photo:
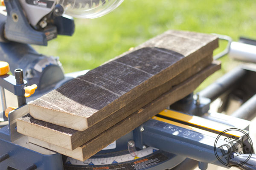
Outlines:
[[[164,84],[218,47],[218,37],[183,31],[157,36],[136,51],[67,82],[29,103],[39,120],[83,131],[146,91]],[[207,38],[208,37],[208,38]]]

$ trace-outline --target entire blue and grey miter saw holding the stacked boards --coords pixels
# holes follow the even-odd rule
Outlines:
[[[71,36],[75,25],[70,16],[100,17],[122,1],[3,1],[6,8],[2,8],[0,14],[0,60],[5,61],[0,65],[3,106],[0,114],[0,170],[186,170],[195,165],[205,170],[209,163],[229,168],[215,156],[214,146],[209,141],[215,140],[220,133],[216,125],[229,125],[248,134],[250,121],[240,118],[255,116],[256,70],[253,68],[239,67],[230,71],[198,95],[186,96],[83,162],[32,144],[26,136],[17,133],[16,119],[26,113],[26,102],[87,72],[64,74],[58,58],[38,54],[28,44],[47,45],[47,41],[58,34]],[[247,42],[243,43],[253,41]],[[229,44],[227,50],[216,58],[233,50],[238,49],[232,49]],[[9,71],[14,76],[7,74]],[[18,108],[7,108],[4,89],[17,96]],[[208,113],[213,101],[220,101],[218,112],[230,111],[233,103],[240,103],[241,107],[234,113],[236,117]],[[202,123],[207,121],[211,124]],[[249,139],[245,142],[252,145]],[[255,168],[256,159],[252,153],[252,147],[243,153],[243,156],[250,155],[250,160],[244,164],[242,156],[226,159],[226,163],[239,163],[244,169]],[[224,157],[222,159],[225,161]]]

